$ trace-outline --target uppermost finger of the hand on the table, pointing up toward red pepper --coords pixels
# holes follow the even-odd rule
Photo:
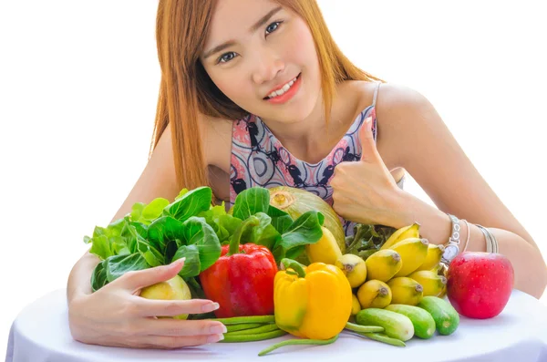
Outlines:
[[[124,288],[131,291],[131,294],[136,293],[139,289],[152,284],[165,282],[173,278],[182,269],[185,258],[177,259],[171,264],[155,266],[139,271],[132,271],[120,276],[116,281],[123,285]]]

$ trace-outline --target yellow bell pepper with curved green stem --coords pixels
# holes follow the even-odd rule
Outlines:
[[[275,274],[275,324],[293,336],[329,339],[346,326],[352,310],[352,290],[335,265],[305,267],[291,259]]]

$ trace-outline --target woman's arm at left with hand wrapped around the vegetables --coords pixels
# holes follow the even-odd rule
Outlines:
[[[172,200],[178,195],[170,139],[168,128],[113,221],[127,214],[134,202],[150,202],[157,197]],[[142,288],[179,274],[183,267],[180,260],[123,274],[91,293],[89,281],[98,261],[87,252],[68,278],[68,326],[75,340],[100,346],[179,348],[222,339],[226,328],[217,321],[154,318],[212,312],[218,304],[206,299],[151,300],[139,296]]]

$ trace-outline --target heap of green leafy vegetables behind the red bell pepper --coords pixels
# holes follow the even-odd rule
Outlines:
[[[270,192],[260,187],[241,192],[230,212],[224,203],[212,205],[209,187],[183,189],[173,202],[137,202],[125,217],[107,227],[97,226],[92,237],[84,237],[91,244],[90,253],[101,259],[91,286],[97,291],[129,271],[185,257],[180,275],[193,297],[203,296],[198,276],[217,262],[223,245],[262,245],[279,265],[285,257],[298,258],[306,244],[316,243],[324,220],[316,210],[293,219],[270,205]]]

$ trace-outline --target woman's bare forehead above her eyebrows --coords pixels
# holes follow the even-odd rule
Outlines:
[[[217,0],[208,42],[245,35],[260,17],[277,6],[279,3],[273,0]]]

